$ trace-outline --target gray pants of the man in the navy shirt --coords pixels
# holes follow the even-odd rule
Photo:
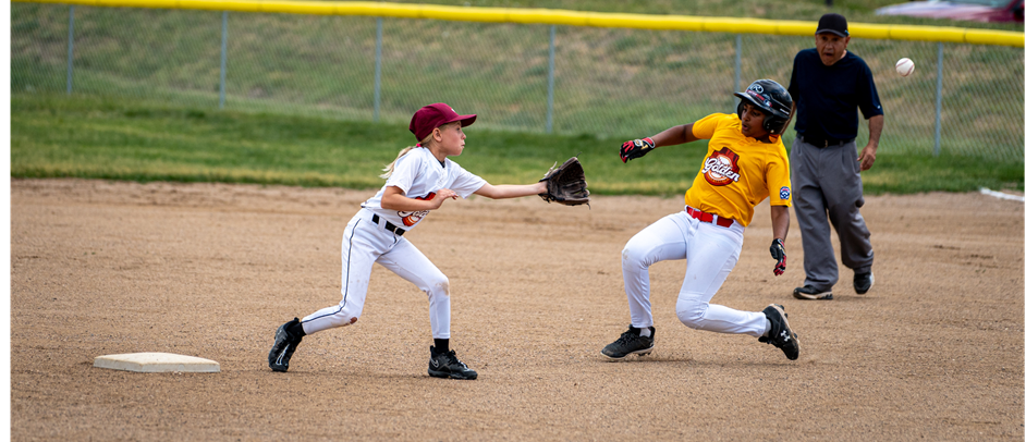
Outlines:
[[[844,267],[855,273],[868,272],[872,246],[858,212],[865,199],[855,142],[816,147],[796,136],[791,147],[791,185],[805,250],[805,285],[826,291],[838,282],[830,224],[838,231]]]

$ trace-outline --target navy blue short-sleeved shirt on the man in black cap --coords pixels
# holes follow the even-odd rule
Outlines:
[[[797,103],[794,130],[810,138],[855,138],[856,108],[867,120],[883,114],[872,72],[852,51],[832,66],[823,64],[815,48],[799,51],[787,91]]]

